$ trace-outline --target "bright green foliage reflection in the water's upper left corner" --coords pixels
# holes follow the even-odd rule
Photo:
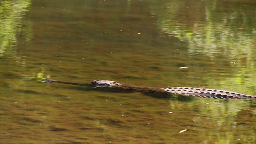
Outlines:
[[[2,0],[0,2],[0,56],[17,56],[17,36],[21,34],[29,41],[31,26],[22,20],[31,0]]]

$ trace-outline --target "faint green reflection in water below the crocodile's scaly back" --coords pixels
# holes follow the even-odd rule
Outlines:
[[[191,130],[190,126],[196,125],[193,128],[193,134],[202,143],[233,144],[240,141],[253,144],[256,141],[255,127],[249,125],[254,123],[256,110],[253,105],[249,104],[252,107],[245,108],[244,104],[248,105],[249,103],[228,100],[212,102],[209,99],[198,100],[197,103],[182,103],[172,100],[169,107],[172,114],[178,114],[180,119],[184,119],[186,124],[180,124],[182,128]],[[197,114],[192,114],[189,118],[182,117],[180,113],[186,113],[187,108]],[[243,116],[246,120],[242,118]],[[186,122],[187,120],[191,122]],[[248,126],[246,126],[247,124]],[[237,135],[238,133],[239,135]]]

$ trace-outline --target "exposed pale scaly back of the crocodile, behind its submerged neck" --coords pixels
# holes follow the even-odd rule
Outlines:
[[[256,96],[249,94],[240,94],[226,90],[215,90],[208,88],[190,88],[190,87],[173,87],[161,88],[166,92],[185,96],[198,96],[203,98],[220,98],[220,99],[250,99],[256,100]]]

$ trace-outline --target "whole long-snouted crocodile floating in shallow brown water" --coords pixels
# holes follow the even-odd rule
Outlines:
[[[118,83],[111,80],[94,80],[92,82],[68,82],[53,80],[51,78],[42,79],[44,82],[57,82],[63,84],[73,84],[78,86],[93,86],[95,88],[112,88],[118,90],[130,90],[136,92],[150,92],[154,94],[168,93],[170,95],[197,96],[200,98],[219,98],[219,99],[250,99],[256,100],[255,95],[241,94],[227,90],[215,90],[208,88],[191,88],[191,87],[171,87],[171,88],[152,88],[144,86],[135,86],[130,84]]]

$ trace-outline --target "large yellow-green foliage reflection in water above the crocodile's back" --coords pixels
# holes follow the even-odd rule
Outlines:
[[[185,41],[189,57],[209,57],[213,66],[208,76],[223,72],[225,78],[206,79],[208,86],[216,88],[221,84],[224,89],[232,87],[255,94],[256,5],[251,3],[168,0],[162,10],[156,10],[158,26],[168,36]],[[214,68],[223,65],[218,58],[230,63],[232,74],[227,76],[224,66],[223,70]]]

